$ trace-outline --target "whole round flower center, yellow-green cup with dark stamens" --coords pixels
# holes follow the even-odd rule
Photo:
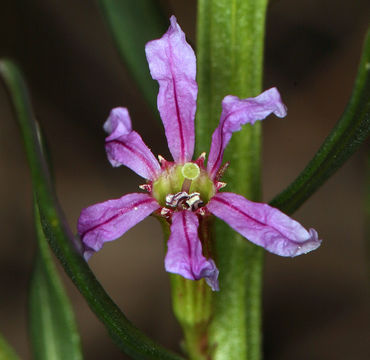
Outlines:
[[[153,182],[152,195],[158,203],[171,209],[196,210],[207,204],[216,187],[203,166],[188,162],[167,163]]]

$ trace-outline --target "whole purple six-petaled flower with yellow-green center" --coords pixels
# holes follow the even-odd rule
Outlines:
[[[162,157],[156,160],[132,130],[126,108],[111,111],[104,124],[108,159],[113,166],[125,165],[145,178],[147,183],[141,189],[147,193],[124,195],[82,210],[78,233],[85,246],[85,258],[152,213],[170,224],[166,270],[191,280],[205,278],[213,290],[219,289],[218,269],[214,260],[207,258],[198,234],[199,223],[212,214],[277,255],[297,256],[320,246],[314,229],[307,231],[278,209],[241,195],[219,192],[225,185],[219,181],[224,170],[223,153],[232,133],[271,113],[286,115],[277,89],[271,88],[255,98],[223,99],[220,124],[212,135],[205,167],[205,154],[192,160],[198,91],[195,54],[174,16],[168,31],[161,39],[149,42],[145,51],[151,75],[159,83],[158,109],[174,161]]]

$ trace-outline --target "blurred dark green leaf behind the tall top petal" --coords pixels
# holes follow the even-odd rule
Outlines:
[[[145,58],[145,44],[163,35],[168,19],[157,0],[98,0],[117,50],[150,106],[157,113],[158,86]]]

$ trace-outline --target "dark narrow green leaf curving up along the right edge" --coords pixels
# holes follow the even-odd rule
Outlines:
[[[351,98],[343,115],[300,175],[271,205],[285,213],[297,210],[367,139],[370,132],[370,31]]]

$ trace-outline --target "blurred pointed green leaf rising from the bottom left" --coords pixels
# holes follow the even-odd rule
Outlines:
[[[35,204],[36,205],[36,204]],[[54,266],[35,206],[38,251],[30,287],[30,336],[37,360],[82,359],[73,310]]]

